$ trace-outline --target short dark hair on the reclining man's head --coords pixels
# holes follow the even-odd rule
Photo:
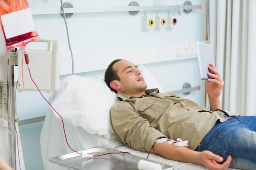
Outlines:
[[[110,65],[108,65],[107,70],[105,71],[105,82],[107,83],[108,87],[109,87],[112,91],[114,91],[115,93],[117,93],[117,91],[110,87],[110,83],[111,83],[113,80],[118,80],[118,81],[120,81],[120,78],[119,78],[118,75],[117,75],[117,70],[114,70],[114,69],[113,69],[113,65],[114,65],[116,62],[119,62],[120,60],[122,60],[122,59],[115,59],[114,61],[112,61],[112,62],[110,63]]]

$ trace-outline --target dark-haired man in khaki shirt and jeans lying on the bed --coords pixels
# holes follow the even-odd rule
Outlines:
[[[105,82],[118,96],[111,120],[119,140],[144,152],[153,146],[152,151],[160,156],[202,164],[209,170],[229,166],[256,169],[256,116],[221,110],[219,96],[224,82],[213,65],[209,69],[214,73],[209,74],[214,79],[206,86],[211,111],[174,94],[146,90],[136,65],[114,60],[105,72]],[[172,81],[168,74],[166,79]],[[155,142],[160,138],[188,140],[189,146]]]

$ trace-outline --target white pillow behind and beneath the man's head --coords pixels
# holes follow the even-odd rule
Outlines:
[[[148,88],[159,88],[163,92],[163,88],[147,68],[140,65],[139,69]],[[108,88],[103,79],[69,76],[63,80],[52,106],[64,122],[81,126],[88,133],[112,139],[115,138],[115,133],[111,125],[110,110],[116,100],[116,93]],[[53,113],[56,118],[61,119],[55,111]]]

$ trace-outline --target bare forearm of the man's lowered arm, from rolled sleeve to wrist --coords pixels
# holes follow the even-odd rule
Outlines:
[[[169,144],[168,142],[155,143],[153,151],[166,159],[201,164],[200,152],[183,146],[175,146],[175,144]]]

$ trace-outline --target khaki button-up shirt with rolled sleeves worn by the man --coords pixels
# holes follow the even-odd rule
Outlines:
[[[140,98],[118,93],[111,108],[111,122],[118,139],[126,146],[149,152],[160,137],[188,140],[195,150],[217,120],[236,115],[224,110],[207,111],[197,103],[158,89],[146,90]]]

